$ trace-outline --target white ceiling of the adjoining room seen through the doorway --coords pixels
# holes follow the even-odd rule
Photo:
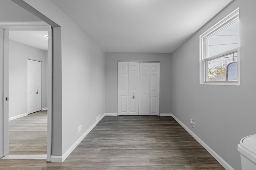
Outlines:
[[[48,39],[44,35],[48,31],[9,31],[9,39],[47,51]]]

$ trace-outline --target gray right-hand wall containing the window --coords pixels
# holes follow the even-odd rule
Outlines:
[[[235,170],[237,145],[256,129],[256,1],[234,0],[172,53],[172,114]],[[240,7],[240,86],[199,84],[199,36]],[[190,119],[195,120],[191,128]]]

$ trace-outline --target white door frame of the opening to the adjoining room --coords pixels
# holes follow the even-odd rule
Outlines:
[[[47,112],[47,154],[46,160],[51,161],[52,152],[52,27],[44,21],[36,22],[0,22],[0,27],[4,29],[4,98],[8,97],[9,87],[9,31],[48,31],[48,112]],[[8,101],[3,101],[3,156],[9,153],[9,113]],[[0,155],[2,157],[2,155]],[[32,156],[33,158],[33,156]]]

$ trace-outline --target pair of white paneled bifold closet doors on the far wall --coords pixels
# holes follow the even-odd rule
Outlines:
[[[118,115],[159,115],[160,63],[118,62]]]

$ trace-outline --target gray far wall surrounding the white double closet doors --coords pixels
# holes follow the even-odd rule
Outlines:
[[[160,113],[171,113],[171,54],[110,52],[105,62],[105,113],[118,112],[118,61],[160,61]]]

